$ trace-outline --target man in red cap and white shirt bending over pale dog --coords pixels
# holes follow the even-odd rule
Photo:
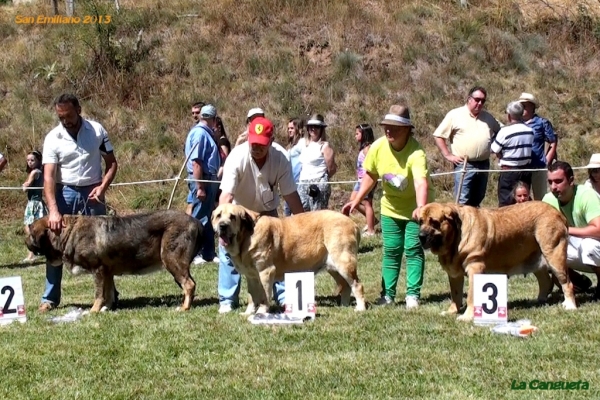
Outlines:
[[[293,214],[304,211],[286,151],[273,146],[273,124],[264,117],[257,117],[248,127],[248,141],[236,146],[225,160],[219,204],[239,204],[277,217],[276,186]],[[229,254],[219,245],[219,313],[230,312],[238,306],[240,287],[241,276]],[[273,292],[279,304],[284,304],[284,291],[282,282],[275,283]]]

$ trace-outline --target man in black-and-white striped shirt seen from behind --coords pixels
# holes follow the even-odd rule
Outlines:
[[[498,177],[498,207],[515,203],[512,190],[519,181],[531,186],[531,172],[521,171],[531,167],[533,130],[523,122],[523,105],[513,101],[506,107],[508,125],[504,126],[492,142],[491,151],[500,159],[504,170]]]

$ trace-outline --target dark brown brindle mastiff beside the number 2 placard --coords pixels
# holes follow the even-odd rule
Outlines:
[[[202,225],[180,211],[158,211],[125,217],[64,215],[59,233],[48,228],[48,217],[29,226],[27,248],[74,275],[94,275],[92,312],[113,307],[114,276],[142,275],[162,267],[183,289],[182,310],[189,310],[196,283],[190,263],[201,248]]]

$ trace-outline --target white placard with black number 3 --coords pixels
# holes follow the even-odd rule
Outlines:
[[[508,321],[508,278],[506,275],[473,276],[475,325],[495,325]]]

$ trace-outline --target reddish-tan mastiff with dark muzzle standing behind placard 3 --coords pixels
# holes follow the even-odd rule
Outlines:
[[[567,221],[554,207],[529,201],[498,209],[431,203],[421,209],[419,239],[430,249],[450,280],[448,313],[462,306],[464,276],[469,277],[467,309],[458,319],[473,319],[475,274],[533,273],[539,284],[538,301],[552,289],[550,270],[560,282],[567,310],[576,309],[567,272]]]

